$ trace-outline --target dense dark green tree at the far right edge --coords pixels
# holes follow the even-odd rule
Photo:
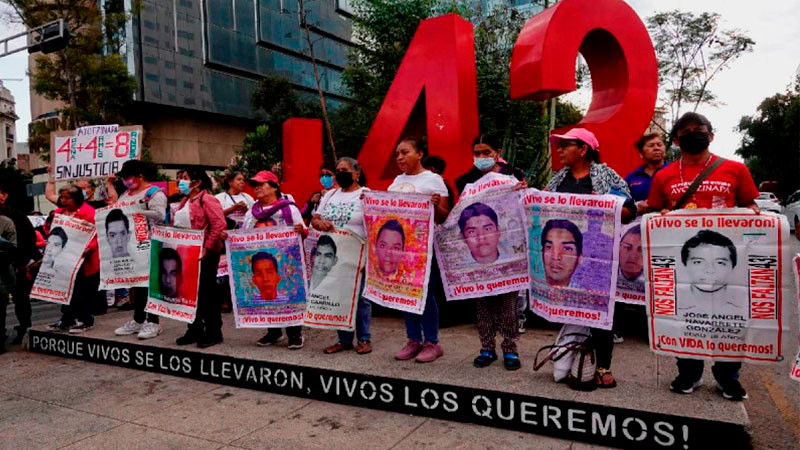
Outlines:
[[[756,183],[777,181],[780,198],[800,188],[800,79],[793,90],[764,99],[755,115],[742,117],[736,150]]]

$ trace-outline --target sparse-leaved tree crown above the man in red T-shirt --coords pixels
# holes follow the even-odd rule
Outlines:
[[[647,18],[647,28],[658,56],[660,101],[672,121],[684,107],[696,111],[700,105],[721,102],[709,89],[711,81],[755,41],[736,29],[720,28],[716,13],[659,12]],[[668,130],[664,130],[668,131]]]

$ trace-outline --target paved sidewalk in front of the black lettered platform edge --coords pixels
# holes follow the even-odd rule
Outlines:
[[[0,357],[0,449],[588,449],[66,358]]]

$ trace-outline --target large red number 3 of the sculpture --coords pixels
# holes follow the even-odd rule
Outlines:
[[[573,127],[591,130],[602,161],[625,176],[638,164],[634,143],[658,95],[658,63],[647,28],[622,0],[564,0],[532,17],[511,56],[511,98],[544,100],[574,91],[580,52],[592,74],[592,102]],[[555,149],[553,168],[561,164]]]

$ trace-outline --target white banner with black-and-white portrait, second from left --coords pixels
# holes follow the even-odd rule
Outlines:
[[[147,287],[150,279],[150,228],[138,204],[97,210],[100,289]]]

